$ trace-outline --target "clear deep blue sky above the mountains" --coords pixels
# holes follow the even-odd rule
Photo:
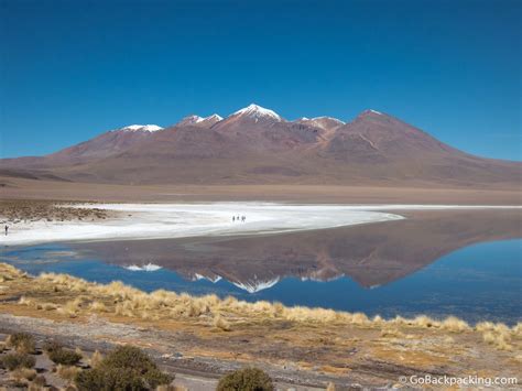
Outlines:
[[[522,1],[0,0],[0,153],[255,102],[521,160]]]

